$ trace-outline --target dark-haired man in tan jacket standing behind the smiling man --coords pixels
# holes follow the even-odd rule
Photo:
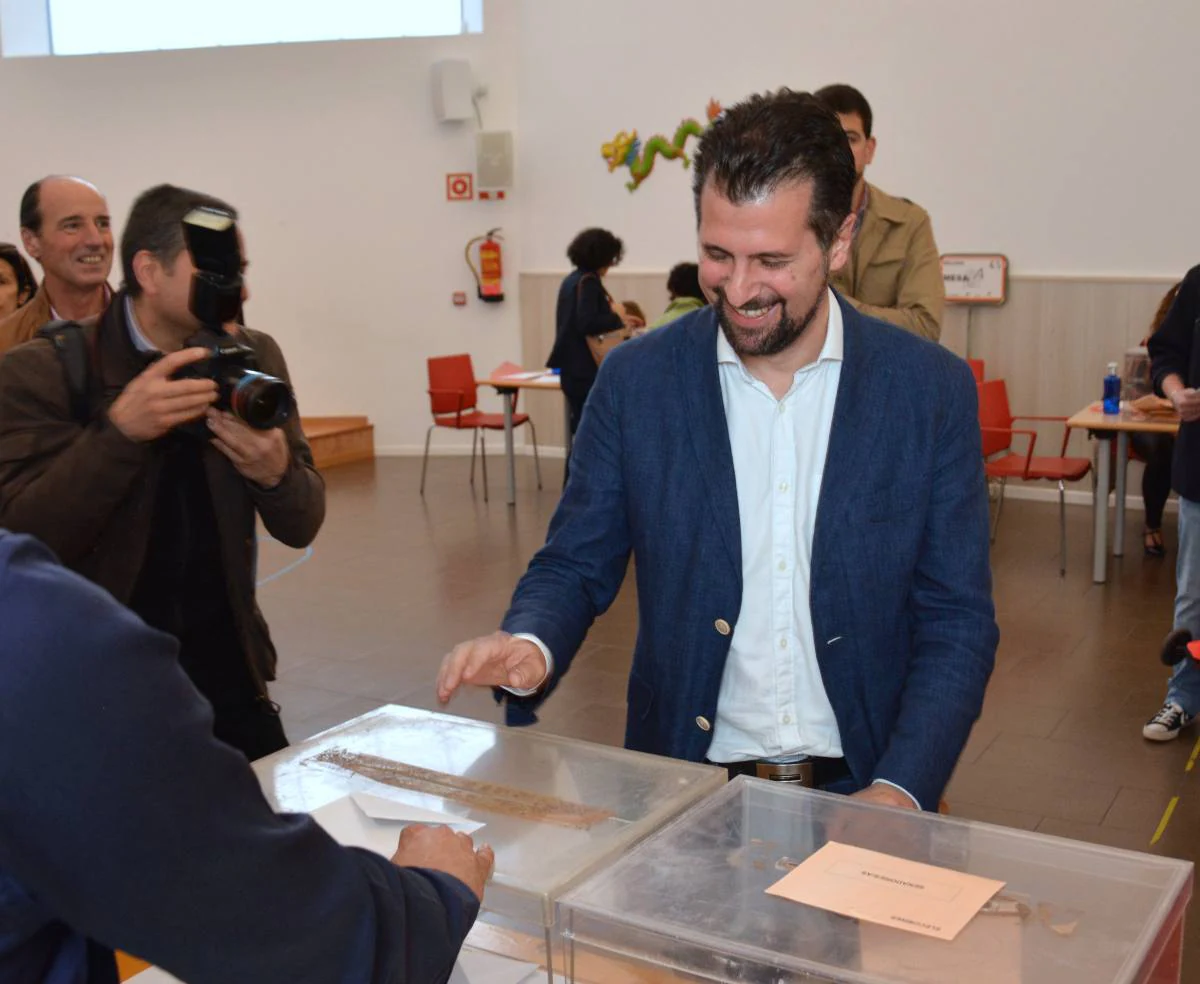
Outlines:
[[[815,95],[841,120],[858,170],[854,245],[830,283],[864,314],[936,342],[946,293],[929,214],[907,198],[893,198],[866,184],[863,175],[875,157],[875,137],[863,94],[850,85],[827,85]]]

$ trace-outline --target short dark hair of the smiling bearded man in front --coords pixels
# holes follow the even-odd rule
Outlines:
[[[791,89],[754,95],[730,107],[701,137],[691,179],[696,222],[709,181],[737,205],[786,184],[811,181],[809,227],[828,250],[850,215],[856,180],[850,142],[824,103]]]

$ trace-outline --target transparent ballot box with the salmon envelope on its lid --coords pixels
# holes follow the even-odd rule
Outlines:
[[[1006,884],[952,941],[766,894],[830,841]],[[588,984],[1166,984],[1190,896],[1188,862],[738,778],[558,919],[568,980]]]

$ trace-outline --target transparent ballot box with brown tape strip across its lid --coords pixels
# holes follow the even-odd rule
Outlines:
[[[725,769],[386,706],[253,764],[275,809],[352,793],[485,826],[496,874],[469,942],[552,964],[554,901],[719,790]],[[557,970],[557,967],[556,967]]]

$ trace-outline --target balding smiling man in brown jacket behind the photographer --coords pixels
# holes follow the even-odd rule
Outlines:
[[[42,286],[0,320],[0,354],[28,342],[47,322],[100,314],[112,290],[113,228],[108,203],[82,178],[35,181],[20,199],[20,241],[42,268]]]

